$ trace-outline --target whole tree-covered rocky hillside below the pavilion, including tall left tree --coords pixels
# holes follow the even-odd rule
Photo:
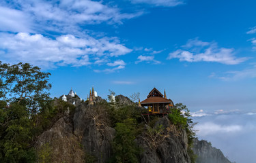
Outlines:
[[[148,120],[122,95],[94,104],[52,99],[51,74],[29,64],[0,62],[0,75],[1,162],[195,162],[193,122],[181,103]]]

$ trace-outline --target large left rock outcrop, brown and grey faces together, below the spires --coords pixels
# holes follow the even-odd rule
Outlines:
[[[50,129],[38,137],[35,148],[45,153],[47,146],[51,155],[44,162],[84,162],[85,153],[95,158],[96,162],[106,162],[112,154],[111,142],[115,130],[104,122],[104,109],[83,103],[79,97],[67,98],[68,103],[75,103],[74,114],[70,114],[69,110],[63,113]],[[104,102],[99,96],[95,100]]]

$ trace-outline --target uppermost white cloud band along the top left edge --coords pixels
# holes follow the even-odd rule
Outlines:
[[[59,2],[17,0],[14,2],[2,1],[0,4],[5,6],[0,8],[0,22],[5,24],[1,29],[14,32],[27,32],[28,29],[33,29],[35,31],[74,33],[79,32],[81,24],[99,24],[101,22],[122,24],[125,19],[143,14],[143,12],[121,13],[117,7],[104,5],[102,1],[90,0]],[[31,20],[33,24],[29,23],[30,26],[28,26],[27,20]],[[20,25],[13,26],[18,23]]]

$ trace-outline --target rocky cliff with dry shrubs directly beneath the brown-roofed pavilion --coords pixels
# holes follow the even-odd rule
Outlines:
[[[159,126],[162,126],[162,133],[157,129]],[[143,148],[143,153],[141,154],[142,163],[190,163],[187,152],[188,140],[186,132],[182,130],[180,133],[177,133],[177,130],[173,130],[170,126],[172,125],[169,119],[166,116],[162,117],[153,127],[153,130],[160,133],[160,137],[156,134],[150,133],[149,135],[145,132],[139,137],[138,143]],[[146,126],[146,131],[147,128],[149,128],[149,126]],[[148,137],[150,137],[150,139],[147,139]]]

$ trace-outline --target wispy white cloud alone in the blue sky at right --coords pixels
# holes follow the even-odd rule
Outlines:
[[[180,61],[187,62],[220,62],[225,65],[237,65],[248,59],[246,57],[236,58],[233,49],[218,48],[217,43],[207,43],[199,41],[197,38],[190,39],[183,47],[190,49],[171,52],[167,59],[179,58]],[[198,52],[199,50],[201,52]]]

